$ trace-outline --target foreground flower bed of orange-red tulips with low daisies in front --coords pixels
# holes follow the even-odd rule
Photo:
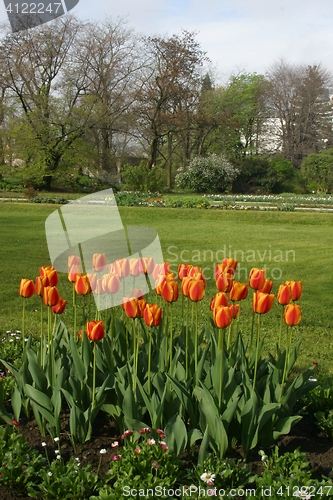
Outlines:
[[[94,273],[84,275],[80,259],[69,259],[74,323],[68,329],[58,321],[68,307],[58,292],[58,273],[46,266],[40,269],[36,282],[21,281],[22,362],[17,366],[8,359],[1,360],[15,384],[12,413],[5,407],[0,384],[0,412],[3,420],[15,427],[22,418],[30,419],[33,415],[41,440],[46,442],[46,436],[50,436],[57,441],[66,432],[74,450],[91,440],[98,418],[108,416],[119,441],[114,439],[112,452],[108,450],[110,468],[103,477],[106,486],[99,483],[100,465],[91,472],[89,466],[79,468],[74,460],[65,462],[61,448],[57,453],[60,458],[53,461],[45,453],[33,455],[34,460],[40,461],[38,467],[46,472],[36,478],[35,469],[31,471],[30,490],[28,473],[21,477],[18,466],[11,470],[4,455],[0,484],[14,480],[30,495],[54,498],[51,491],[74,488],[75,484],[82,488],[81,482],[87,476],[87,498],[119,498],[126,486],[125,471],[131,468],[126,481],[131,481],[134,489],[144,484],[147,488],[189,486],[195,477],[198,484],[201,480],[210,488],[229,490],[233,485],[241,487],[251,481],[263,484],[258,477],[251,479],[244,463],[229,462],[226,456],[240,446],[246,460],[251,450],[267,449],[288,434],[301,418],[295,411],[297,402],[316,385],[311,378],[313,366],[292,380],[289,378],[300,347],[299,341],[293,344],[292,334],[301,321],[298,300],[302,283],[288,281],[280,285],[275,296],[271,293],[273,283],[266,279],[263,269],[252,269],[248,283],[239,283],[234,279],[237,261],[224,259],[215,269],[217,293],[210,302],[211,323],[200,329],[198,303],[206,293],[201,269],[182,264],[175,276],[168,263],[120,259],[107,265],[104,254],[92,256],[92,267]],[[104,303],[111,305],[112,295],[119,292],[122,280],[132,276],[135,285],[139,275],[155,280],[155,303],[147,303],[142,291],[135,287],[129,297],[123,297],[122,306],[106,311],[98,307],[93,311],[85,299],[93,292],[97,305],[101,295],[106,295]],[[248,297],[249,289],[253,290],[252,329],[244,337],[237,322],[241,302]],[[25,338],[25,304],[35,293],[41,297],[42,314],[45,310],[48,316],[47,332],[41,332],[37,342]],[[78,300],[83,305],[80,309]],[[274,301],[281,308],[277,348],[275,355],[265,358],[261,323]],[[182,324],[174,324],[175,307],[181,308]],[[8,429],[3,432],[4,453],[12,453],[15,442],[24,450],[19,453],[21,459],[26,457],[25,444],[17,437],[20,434]],[[179,461],[181,456],[196,457],[191,459],[189,476]],[[304,462],[304,457],[298,459]],[[272,464],[278,462],[278,455],[271,460]],[[24,471],[30,467],[25,462],[21,464]],[[194,468],[193,463],[197,464]],[[272,467],[267,467],[266,476]],[[313,482],[309,470],[305,466],[300,469],[299,480]],[[228,474],[223,472],[226,470]],[[81,479],[71,480],[69,485],[65,478],[71,474]],[[294,487],[295,481],[290,481],[288,484]],[[75,494],[84,498],[82,491]]]

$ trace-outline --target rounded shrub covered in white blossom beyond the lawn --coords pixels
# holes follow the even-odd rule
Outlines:
[[[186,168],[179,168],[176,185],[197,193],[224,192],[239,170],[223,155],[196,156]]]

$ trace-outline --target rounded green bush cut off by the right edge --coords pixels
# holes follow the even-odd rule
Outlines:
[[[333,149],[325,149],[304,158],[300,174],[308,191],[331,193],[333,189]]]

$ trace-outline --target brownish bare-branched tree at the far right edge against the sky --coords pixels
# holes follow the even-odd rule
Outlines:
[[[299,166],[304,156],[332,144],[332,77],[321,65],[293,66],[283,61],[274,64],[267,77],[282,153]]]

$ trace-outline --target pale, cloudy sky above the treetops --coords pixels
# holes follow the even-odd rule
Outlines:
[[[280,59],[320,63],[333,73],[332,0],[79,0],[71,12],[86,21],[126,18],[147,35],[195,31],[220,82],[265,74]],[[0,21],[6,19],[1,2]]]

